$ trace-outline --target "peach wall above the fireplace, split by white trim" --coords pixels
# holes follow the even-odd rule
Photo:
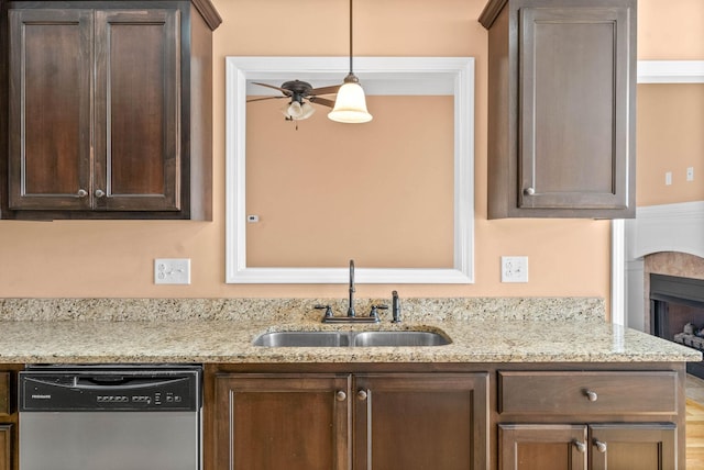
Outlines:
[[[639,0],[638,7],[639,59],[704,60],[702,0]],[[704,200],[704,85],[639,85],[637,99],[637,205]]]

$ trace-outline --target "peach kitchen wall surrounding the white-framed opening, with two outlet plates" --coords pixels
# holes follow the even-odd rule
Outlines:
[[[700,0],[641,0],[640,56],[682,58],[695,42],[661,9]],[[0,296],[343,296],[341,286],[228,286],[224,278],[224,57],[348,53],[346,1],[216,0],[223,24],[213,37],[215,183],[212,222],[0,222]],[[475,272],[472,286],[403,286],[402,295],[601,295],[609,292],[609,223],[486,220],[486,32],[483,0],[358,0],[355,54],[473,56],[475,111]],[[685,11],[686,12],[686,11]],[[667,27],[668,33],[662,31]],[[700,33],[702,29],[697,30]],[[701,37],[701,36],[700,36]],[[662,45],[667,56],[654,45]],[[647,51],[652,44],[653,53]],[[702,44],[700,41],[698,44]],[[644,48],[646,51],[644,51]],[[688,54],[700,55],[700,52]],[[675,57],[676,55],[676,57]],[[698,57],[703,58],[703,57]],[[526,255],[530,282],[502,284],[499,256]],[[155,257],[188,257],[193,283],[153,284]],[[389,286],[360,286],[360,296]]]

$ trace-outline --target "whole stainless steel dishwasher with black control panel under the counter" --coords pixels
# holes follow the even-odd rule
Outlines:
[[[201,368],[29,366],[20,470],[198,470]]]

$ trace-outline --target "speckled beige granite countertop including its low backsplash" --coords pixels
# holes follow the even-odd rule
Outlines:
[[[596,299],[408,299],[404,322],[322,324],[337,300],[0,299],[0,363],[679,362],[693,349],[604,320]],[[358,315],[378,300],[362,300]],[[388,303],[388,302],[387,302]],[[161,314],[155,314],[155,312]],[[364,313],[360,313],[364,312]],[[426,347],[260,347],[273,331],[441,331]]]

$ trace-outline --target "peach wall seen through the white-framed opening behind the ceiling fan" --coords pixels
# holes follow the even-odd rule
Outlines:
[[[248,266],[452,268],[453,97],[366,102],[370,123],[314,105],[297,130],[286,100],[248,103]]]

